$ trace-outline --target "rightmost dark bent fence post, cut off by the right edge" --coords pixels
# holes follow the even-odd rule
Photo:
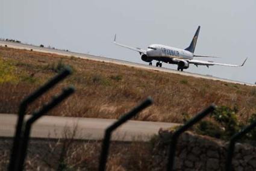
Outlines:
[[[238,132],[237,134],[231,137],[229,141],[229,146],[228,146],[228,156],[226,158],[226,170],[232,170],[232,158],[234,154],[236,141],[239,140],[243,135],[247,134],[249,131],[254,129],[255,127],[256,127],[256,122],[246,126],[244,129],[242,129],[242,131]]]

